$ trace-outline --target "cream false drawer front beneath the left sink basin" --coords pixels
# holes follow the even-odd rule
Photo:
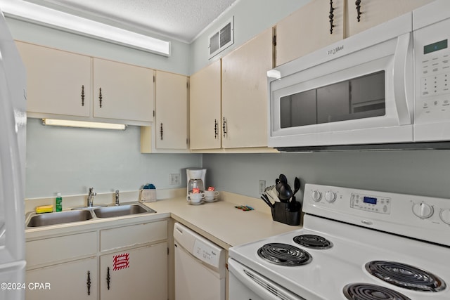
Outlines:
[[[97,253],[97,233],[79,233],[25,242],[27,267]]]

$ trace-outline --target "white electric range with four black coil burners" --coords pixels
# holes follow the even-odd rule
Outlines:
[[[230,300],[450,299],[450,200],[307,184],[303,211],[231,247]]]

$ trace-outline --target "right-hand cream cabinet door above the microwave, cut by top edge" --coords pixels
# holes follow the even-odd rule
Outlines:
[[[391,20],[399,15],[413,11],[432,0],[364,0],[361,1],[360,20],[354,1],[347,4],[348,32],[347,37],[362,32],[375,25]]]

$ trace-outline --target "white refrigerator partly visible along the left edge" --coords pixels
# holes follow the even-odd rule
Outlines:
[[[25,299],[25,67],[0,11],[0,299]]]

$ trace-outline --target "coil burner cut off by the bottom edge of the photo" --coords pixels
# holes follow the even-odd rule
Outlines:
[[[393,289],[371,285],[369,283],[353,283],[343,289],[344,295],[349,300],[411,300],[404,294]]]

